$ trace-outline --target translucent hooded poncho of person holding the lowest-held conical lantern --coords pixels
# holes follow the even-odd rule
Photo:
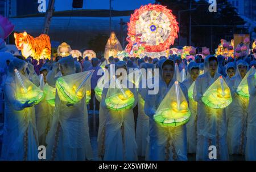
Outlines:
[[[163,63],[167,61],[174,63],[170,59],[159,61],[159,85],[156,86],[159,87],[159,91],[155,92],[155,94],[147,93],[144,104],[144,111],[146,115],[150,117],[150,141],[146,160],[187,160],[187,136],[185,125],[177,127],[163,126],[163,124],[155,122],[153,117],[156,113],[156,109],[158,109],[162,100],[176,81],[175,67],[174,77],[170,81],[170,84],[167,85],[163,80]],[[154,78],[154,80],[156,80],[156,78]],[[187,89],[181,83],[179,83],[179,86],[185,95],[186,100],[188,100]],[[170,101],[168,103],[170,104]]]

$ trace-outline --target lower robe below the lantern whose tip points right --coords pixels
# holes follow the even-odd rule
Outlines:
[[[85,98],[73,106],[66,104],[56,91],[52,126],[46,137],[47,160],[92,160]]]

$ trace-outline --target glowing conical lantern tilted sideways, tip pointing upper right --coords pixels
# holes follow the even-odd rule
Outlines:
[[[60,77],[56,80],[56,89],[61,101],[77,104],[90,92],[90,78],[93,70]],[[87,100],[86,100],[87,102]]]

